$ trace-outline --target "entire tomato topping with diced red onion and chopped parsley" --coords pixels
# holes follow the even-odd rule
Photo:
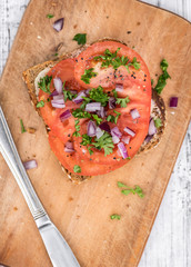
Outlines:
[[[72,174],[103,175],[123,166],[148,135],[149,70],[122,43],[97,42],[60,61],[39,77],[38,88],[51,149]]]

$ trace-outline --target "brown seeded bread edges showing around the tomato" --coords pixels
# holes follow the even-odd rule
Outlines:
[[[107,38],[104,40],[111,40],[111,39]],[[99,41],[104,41],[104,40],[99,40]],[[117,41],[117,40],[113,40],[113,41]],[[125,43],[123,43],[123,44],[125,44]],[[37,76],[42,70],[44,70],[47,67],[52,68],[54,65],[57,65],[58,62],[60,62],[63,59],[77,57],[80,52],[82,52],[84,49],[87,49],[87,47],[88,47],[88,44],[86,44],[86,46],[83,46],[79,49],[76,49],[73,52],[64,53],[61,57],[58,57],[53,60],[49,60],[49,61],[46,61],[43,63],[39,63],[37,66],[33,66],[22,73],[22,78],[23,78],[23,80],[24,80],[24,82],[27,83],[27,87],[28,87],[28,92],[29,92],[31,102],[32,102],[36,111],[39,113],[39,116],[41,116],[40,110],[36,107],[37,103],[38,103],[38,98],[37,98],[37,95],[36,95],[36,86],[34,86],[34,80],[36,80]],[[149,142],[144,141],[142,144],[142,146],[140,147],[140,149],[138,151],[138,155],[142,151],[148,151],[151,148],[155,147],[160,142],[161,137],[164,132],[165,106],[164,106],[163,99],[154,90],[152,90],[152,101],[154,101],[154,105],[153,105],[154,108],[151,112],[151,117],[152,118],[160,118],[161,122],[162,122],[162,126],[158,129],[157,134],[153,136],[153,138]],[[46,126],[46,129],[47,129],[47,132],[50,130],[48,128],[48,126]],[[69,170],[67,170],[62,165],[61,165],[61,168],[68,175],[68,177],[72,180],[72,182],[74,182],[74,184],[81,184],[82,181],[89,180],[91,178],[91,176],[73,175],[73,174],[69,172]]]

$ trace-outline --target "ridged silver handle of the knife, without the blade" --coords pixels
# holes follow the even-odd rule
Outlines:
[[[47,215],[17,151],[11,132],[0,107],[0,151],[12,171],[34,220]]]

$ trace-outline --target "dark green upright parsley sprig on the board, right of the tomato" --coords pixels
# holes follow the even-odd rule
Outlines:
[[[162,75],[159,77],[158,79],[158,83],[154,88],[154,90],[160,95],[161,91],[163,90],[164,86],[167,85],[167,79],[171,79],[170,75],[168,73],[167,69],[169,67],[169,63],[165,59],[163,59],[160,63],[161,70],[162,70]]]

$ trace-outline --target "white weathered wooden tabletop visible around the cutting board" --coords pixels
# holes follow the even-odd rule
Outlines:
[[[142,1],[191,21],[191,0]],[[28,2],[0,0],[0,73]],[[191,123],[139,267],[191,267]]]

